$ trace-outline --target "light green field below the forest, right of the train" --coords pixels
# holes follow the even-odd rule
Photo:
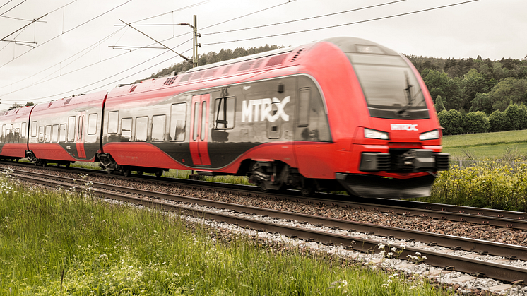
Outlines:
[[[443,151],[453,160],[523,160],[527,155],[527,130],[444,136]]]

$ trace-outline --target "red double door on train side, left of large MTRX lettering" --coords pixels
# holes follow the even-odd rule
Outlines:
[[[194,95],[191,101],[190,154],[194,165],[211,165],[208,156],[208,113],[211,95]]]

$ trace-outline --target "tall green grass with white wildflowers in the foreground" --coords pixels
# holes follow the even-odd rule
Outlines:
[[[2,296],[442,295],[426,280],[305,255],[88,191],[0,177]]]

